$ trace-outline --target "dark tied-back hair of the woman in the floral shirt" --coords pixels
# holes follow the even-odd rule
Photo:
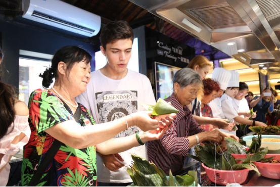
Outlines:
[[[44,88],[49,88],[50,85],[53,83],[53,78],[58,78],[58,64],[60,62],[64,62],[67,64],[66,71],[68,72],[68,75],[73,68],[73,65],[75,63],[79,62],[85,62],[86,64],[91,62],[91,55],[89,53],[81,48],[80,46],[75,45],[67,45],[63,48],[59,49],[56,54],[54,55],[54,58],[52,60],[52,67],[46,68],[43,74],[40,74],[39,77],[43,78],[42,85]]]

